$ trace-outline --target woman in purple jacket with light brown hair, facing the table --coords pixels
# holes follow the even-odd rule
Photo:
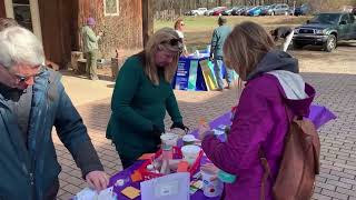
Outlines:
[[[273,184],[278,173],[288,113],[307,117],[315,90],[298,74],[298,60],[274,50],[266,30],[244,22],[233,30],[224,46],[224,58],[246,81],[226,142],[209,131],[202,132],[202,149],[219,169],[236,174],[225,184],[227,200],[258,200],[264,169],[258,151],[263,150],[271,168],[266,184],[266,200],[273,199]]]

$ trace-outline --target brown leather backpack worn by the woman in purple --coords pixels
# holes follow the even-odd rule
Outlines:
[[[314,192],[315,177],[319,173],[320,141],[309,119],[294,118],[289,121],[273,194],[276,200],[308,200]],[[264,200],[266,182],[271,176],[264,151],[259,153],[265,170],[260,192],[260,200]]]

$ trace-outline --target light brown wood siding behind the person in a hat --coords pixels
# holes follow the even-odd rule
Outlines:
[[[144,46],[141,0],[119,0],[119,16],[105,16],[103,0],[79,0],[78,16],[80,28],[88,17],[92,17],[97,21],[95,31],[105,32],[99,42],[103,58],[115,57],[116,49],[140,49]],[[81,49],[81,39],[78,44]]]

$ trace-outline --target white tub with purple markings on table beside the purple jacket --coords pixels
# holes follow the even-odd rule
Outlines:
[[[202,191],[206,197],[214,198],[222,193],[224,183],[219,179],[211,181],[211,178],[217,174],[201,170]]]

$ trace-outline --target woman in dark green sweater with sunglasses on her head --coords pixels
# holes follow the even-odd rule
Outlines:
[[[142,52],[127,59],[118,73],[107,138],[112,139],[123,169],[142,153],[159,149],[166,110],[174,122],[171,129],[187,130],[170,86],[181,51],[177,32],[160,29]]]

